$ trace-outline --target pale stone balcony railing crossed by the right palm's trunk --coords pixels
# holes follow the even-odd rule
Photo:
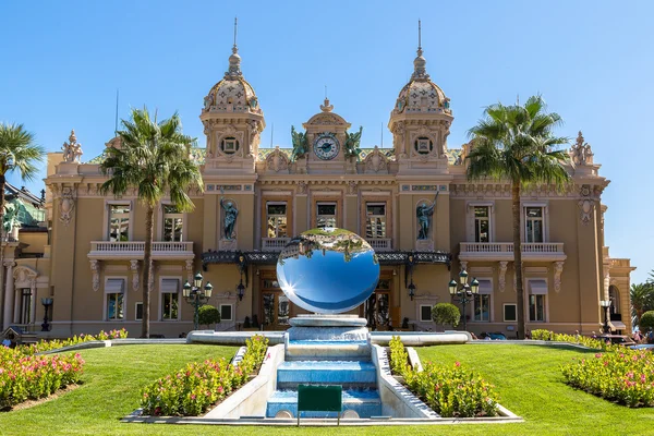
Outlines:
[[[512,261],[512,242],[461,242],[459,258],[462,261],[488,259]],[[562,242],[523,242],[522,258],[525,261],[564,261]]]

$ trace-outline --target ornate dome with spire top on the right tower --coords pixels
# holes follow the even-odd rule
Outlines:
[[[417,57],[413,61],[413,74],[411,81],[398,96],[393,113],[451,113],[449,98],[443,89],[431,81],[425,65],[427,61],[422,56],[422,47],[417,47]]]

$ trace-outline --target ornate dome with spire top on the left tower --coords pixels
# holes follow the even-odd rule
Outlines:
[[[254,88],[241,72],[241,57],[234,44],[225,77],[205,97],[204,110],[208,112],[263,113]]]

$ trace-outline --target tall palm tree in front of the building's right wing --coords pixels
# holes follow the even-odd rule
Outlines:
[[[469,180],[491,178],[511,182],[518,338],[524,338],[522,251],[519,250],[521,190],[535,184],[554,184],[557,189],[568,185],[569,156],[565,150],[554,149],[567,144],[568,138],[554,135],[561,118],[546,111],[541,96],[530,97],[524,106],[492,105],[484,113],[485,118],[469,131],[472,149],[465,157],[467,175]]]

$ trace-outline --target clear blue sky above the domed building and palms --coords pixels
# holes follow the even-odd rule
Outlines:
[[[275,124],[274,144],[288,146],[327,85],[335,111],[363,125],[363,146],[379,144],[382,126],[389,146],[422,19],[427,71],[456,117],[450,148],[485,106],[541,93],[566,121],[559,133],[582,130],[611,180],[603,196],[611,255],[632,258],[634,281],[654,268],[644,183],[654,157],[652,1],[3,2],[0,120],[24,123],[50,152],[74,128],[90,159],[112,137],[118,88],[120,117],[143,105],[177,110],[203,138],[203,97],[227,69],[234,15],[242,70],[268,125],[263,144]]]

